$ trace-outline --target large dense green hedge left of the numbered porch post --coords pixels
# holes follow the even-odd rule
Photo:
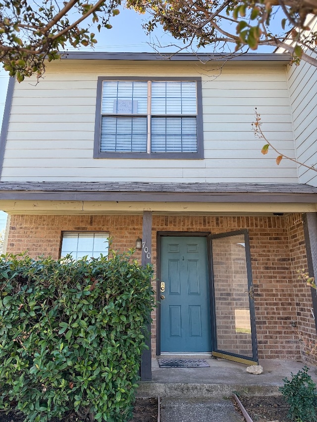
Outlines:
[[[0,259],[0,409],[46,422],[131,416],[152,269],[131,252],[75,261]]]

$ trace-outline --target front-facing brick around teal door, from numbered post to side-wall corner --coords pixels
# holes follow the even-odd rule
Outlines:
[[[211,234],[248,229],[260,359],[300,359],[286,220],[283,216],[157,216],[153,218],[153,261],[157,231]],[[155,340],[152,340],[155,342]]]

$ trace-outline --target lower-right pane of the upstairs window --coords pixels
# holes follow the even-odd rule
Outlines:
[[[152,152],[197,152],[196,117],[153,117]]]

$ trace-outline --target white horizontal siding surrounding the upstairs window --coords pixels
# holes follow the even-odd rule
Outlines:
[[[297,183],[294,163],[261,153],[254,109],[266,137],[294,157],[285,66],[195,62],[70,61],[48,66],[39,84],[16,83],[1,181]],[[202,160],[93,159],[98,76],[201,76]]]

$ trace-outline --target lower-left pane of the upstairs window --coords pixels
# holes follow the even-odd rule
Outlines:
[[[146,117],[103,117],[101,151],[146,152]]]

